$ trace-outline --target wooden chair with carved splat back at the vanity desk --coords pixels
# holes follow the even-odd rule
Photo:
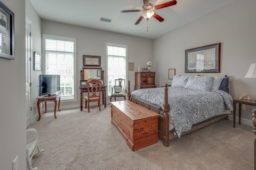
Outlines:
[[[90,102],[98,101],[98,107],[100,109],[100,89],[102,82],[97,79],[88,79],[86,86],[88,89],[87,96],[85,99],[85,109],[88,103],[88,113],[90,112]]]

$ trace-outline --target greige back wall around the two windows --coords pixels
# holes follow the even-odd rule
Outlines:
[[[42,20],[42,34],[76,38],[76,101],[61,102],[61,107],[64,109],[80,107],[79,82],[80,70],[83,67],[83,55],[101,56],[101,67],[102,70],[105,71],[104,77],[106,77],[106,43],[128,45],[128,62],[134,63],[134,71],[128,71],[128,79],[131,81],[132,91],[134,90],[135,72],[138,71],[138,66],[140,65],[140,68],[146,67],[147,61],[153,60],[153,40],[151,39],[95,30],[48,20]],[[109,103],[109,98],[107,98],[107,103]],[[52,105],[49,104],[49,107],[51,106]]]

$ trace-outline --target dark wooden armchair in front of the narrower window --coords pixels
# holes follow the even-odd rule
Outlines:
[[[115,79],[115,85],[112,87],[110,102],[112,102],[112,97],[115,98],[115,101],[116,97],[124,97],[124,100],[126,100],[125,79]]]

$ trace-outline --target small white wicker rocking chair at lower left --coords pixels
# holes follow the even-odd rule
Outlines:
[[[37,167],[32,168],[31,160],[34,155],[37,155],[44,150],[40,150],[39,145],[38,145],[38,133],[37,130],[34,128],[29,128],[26,130],[26,136],[27,136],[27,144],[26,144],[26,149],[27,149],[27,165],[29,170],[37,170]],[[38,150],[37,152],[36,149]]]

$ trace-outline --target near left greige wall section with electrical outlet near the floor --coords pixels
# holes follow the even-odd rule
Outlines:
[[[26,169],[25,0],[1,0],[14,12],[15,59],[0,58],[0,169],[18,156]]]

